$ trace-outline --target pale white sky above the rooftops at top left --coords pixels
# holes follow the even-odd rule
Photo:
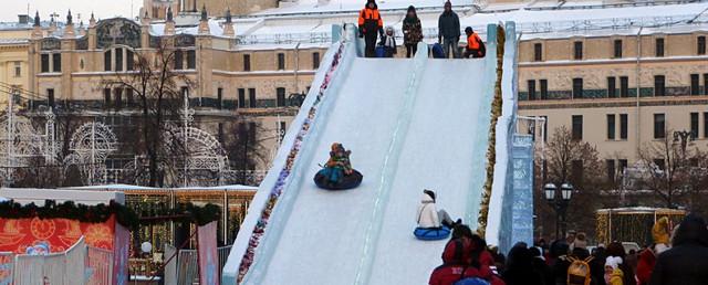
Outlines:
[[[66,21],[66,11],[71,9],[75,23],[83,20],[85,24],[88,24],[92,11],[96,19],[116,15],[136,17],[143,6],[143,0],[0,0],[0,21],[17,21],[18,14],[27,13],[28,4],[30,6],[30,14],[34,15],[34,11],[39,11],[42,20],[49,20],[49,15],[56,12],[61,21],[64,22]],[[81,19],[79,19],[79,14],[81,14]]]

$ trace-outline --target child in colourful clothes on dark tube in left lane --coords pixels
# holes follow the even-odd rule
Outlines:
[[[351,150],[344,149],[339,142],[332,144],[330,159],[315,177],[314,182],[324,189],[351,189],[362,182],[362,175],[352,169]]]

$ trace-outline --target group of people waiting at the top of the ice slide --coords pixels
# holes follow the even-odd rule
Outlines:
[[[465,29],[467,45],[465,52],[460,53],[460,19],[452,11],[452,3],[445,2],[445,10],[438,18],[438,44],[441,46],[445,57],[460,59],[483,57],[485,43],[471,27]],[[416,8],[410,6],[406,12],[400,28],[403,32],[403,43],[406,48],[406,57],[416,54],[418,43],[423,41],[423,27],[416,12]],[[397,53],[395,31],[393,27],[384,29],[384,21],[378,11],[375,0],[367,0],[366,6],[358,14],[358,36],[364,39],[366,57],[393,57]],[[378,43],[376,42],[379,39]],[[379,46],[383,54],[376,54]]]

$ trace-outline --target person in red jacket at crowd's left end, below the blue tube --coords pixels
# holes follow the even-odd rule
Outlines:
[[[489,267],[476,267],[467,263],[471,246],[468,239],[450,240],[442,252],[442,265],[433,271],[428,284],[451,285],[462,278],[473,277],[489,279],[492,275]]]

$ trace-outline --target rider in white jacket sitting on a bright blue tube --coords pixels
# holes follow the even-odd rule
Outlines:
[[[450,235],[450,230],[461,223],[460,219],[454,222],[445,210],[437,210],[433,190],[423,190],[423,198],[420,205],[418,205],[418,228],[413,232],[418,240],[447,239]]]

